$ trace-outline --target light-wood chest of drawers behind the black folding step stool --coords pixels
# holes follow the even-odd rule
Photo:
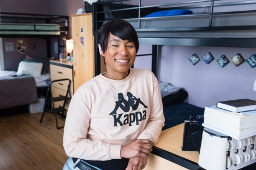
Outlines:
[[[66,61],[63,59],[60,60],[51,60],[50,61],[50,70],[51,70],[51,81],[57,79],[70,79],[71,80],[71,97],[73,96],[74,88],[73,88],[73,62]],[[65,96],[68,89],[68,81],[56,82],[52,83],[52,96]],[[59,105],[63,105],[64,101],[56,101],[55,107],[59,107]],[[68,109],[69,102],[67,101],[65,105],[65,109]]]

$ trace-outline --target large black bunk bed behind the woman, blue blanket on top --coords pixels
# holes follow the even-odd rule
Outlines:
[[[256,10],[230,11],[231,8],[229,8],[255,4],[256,1],[195,0],[150,6],[142,6],[141,0],[137,1],[138,5],[126,5],[122,2],[123,0],[109,0],[93,3],[95,75],[100,74],[100,54],[96,44],[97,31],[102,24],[116,18],[125,19],[133,25],[137,31],[139,44],[152,45],[151,53],[137,57],[152,56],[151,69],[155,75],[157,75],[158,45],[256,48]],[[213,12],[216,7],[226,7],[229,11]],[[189,15],[144,17],[152,12],[175,9],[194,9],[197,12]],[[198,12],[199,10],[201,12]],[[184,120],[189,119],[189,116],[204,114],[204,108],[184,102],[164,105],[163,111],[166,125],[162,130],[183,123]],[[171,152],[159,151],[157,147],[153,148],[152,153],[187,169],[200,168],[195,162]],[[254,164],[253,167],[255,166]]]

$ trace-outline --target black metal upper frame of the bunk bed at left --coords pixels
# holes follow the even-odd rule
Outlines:
[[[51,56],[50,48],[51,48],[51,37],[56,37],[58,42],[58,57],[60,54],[61,48],[64,48],[64,45],[60,44],[60,39],[65,38],[68,39],[68,16],[61,15],[41,15],[41,14],[22,14],[22,13],[11,13],[11,12],[0,12],[0,20],[1,23],[5,24],[19,24],[19,25],[28,25],[34,24],[34,29],[0,29],[0,31],[26,31],[28,34],[0,34],[0,37],[41,37],[46,39],[46,48],[47,48],[47,56]],[[29,32],[52,32],[56,30],[38,30],[36,29],[36,24],[59,24],[60,27],[60,35],[32,35]],[[56,27],[56,26],[55,26]]]

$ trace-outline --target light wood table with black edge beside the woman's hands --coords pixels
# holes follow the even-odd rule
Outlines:
[[[200,169],[197,164],[199,152],[181,150],[183,129],[184,124],[180,124],[162,131],[147,160],[145,170]]]

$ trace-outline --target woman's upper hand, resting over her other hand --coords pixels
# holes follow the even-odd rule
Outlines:
[[[152,151],[151,143],[152,142],[148,139],[137,139],[136,141],[121,147],[121,157],[134,158],[141,156],[143,158],[148,158]]]

